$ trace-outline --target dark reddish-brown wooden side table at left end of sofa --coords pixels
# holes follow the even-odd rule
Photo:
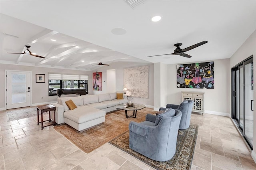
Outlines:
[[[48,104],[48,105],[40,105],[40,106],[36,106],[36,109],[37,109],[37,125],[39,125],[39,123],[41,123],[42,125],[42,130],[44,129],[44,127],[48,127],[48,126],[51,126],[51,125],[56,125],[56,122],[55,122],[55,111],[56,111],[56,107],[54,105],[51,105],[51,104]],[[41,122],[39,122],[39,110],[41,110]],[[51,122],[51,111],[54,112],[54,123],[53,124],[50,124],[50,125],[47,125],[47,126],[44,126],[43,123],[46,122],[46,121],[43,121],[43,113],[44,112],[48,112],[49,111],[49,122]]]

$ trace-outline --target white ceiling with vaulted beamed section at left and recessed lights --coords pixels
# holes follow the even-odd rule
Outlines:
[[[94,70],[108,67],[99,62],[209,61],[231,57],[256,29],[255,0],[137,1],[0,0],[0,63]],[[187,52],[191,58],[146,57],[204,40]],[[22,53],[27,44],[46,58],[7,53]]]

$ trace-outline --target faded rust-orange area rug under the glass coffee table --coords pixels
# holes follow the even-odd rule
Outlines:
[[[126,119],[124,111],[118,110],[108,113],[104,123],[85,130],[84,132],[78,132],[76,129],[66,124],[55,126],[54,129],[78,148],[89,153],[128,130],[130,121],[142,122],[145,120],[147,114],[154,113],[156,113],[156,111],[144,108],[137,111],[136,118]],[[132,111],[128,111],[128,115],[130,114],[132,114]]]

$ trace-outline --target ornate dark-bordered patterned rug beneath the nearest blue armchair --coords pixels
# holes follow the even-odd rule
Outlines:
[[[179,130],[179,136],[177,138],[176,152],[171,160],[166,162],[158,162],[135,152],[129,148],[129,130],[120,134],[109,143],[124,150],[128,154],[138,158],[146,164],[156,168],[158,170],[189,170],[192,158],[194,154],[194,148],[196,145],[196,137],[198,132],[198,125],[190,124],[190,127],[186,130]],[[156,146],[157,147],[157,146]]]

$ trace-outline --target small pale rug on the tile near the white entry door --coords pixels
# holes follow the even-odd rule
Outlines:
[[[37,116],[36,107],[17,109],[17,110],[12,110],[7,112],[8,122],[20,120],[28,117],[33,117],[33,116]]]

